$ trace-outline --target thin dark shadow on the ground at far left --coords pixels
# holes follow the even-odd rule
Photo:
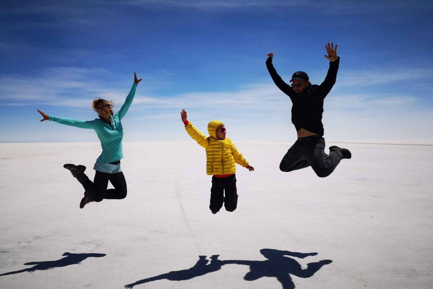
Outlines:
[[[63,255],[61,255],[61,256],[66,256],[65,258],[61,258],[59,260],[54,260],[54,261],[28,262],[28,263],[25,263],[24,265],[35,265],[35,266],[33,266],[31,268],[26,268],[23,270],[13,271],[13,272],[9,272],[9,273],[3,273],[3,274],[0,274],[0,276],[18,274],[18,273],[23,273],[23,272],[34,272],[36,270],[47,270],[47,269],[52,269],[55,267],[65,267],[65,266],[69,266],[69,265],[80,264],[81,261],[83,261],[89,257],[104,257],[105,255],[106,254],[99,254],[99,253],[76,254],[76,253],[65,252],[65,253],[63,253]]]

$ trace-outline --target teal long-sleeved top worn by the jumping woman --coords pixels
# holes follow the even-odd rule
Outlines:
[[[120,122],[125,116],[129,107],[132,104],[136,92],[137,84],[132,84],[131,91],[129,91],[125,102],[119,111],[114,115],[110,116],[111,125],[106,123],[104,120],[97,118],[95,120],[73,120],[71,118],[55,117],[50,115],[49,120],[55,121],[56,123],[66,124],[71,127],[81,127],[87,129],[93,129],[102,147],[102,153],[96,160],[100,164],[107,162],[116,162],[123,159],[122,151],[122,139],[123,139],[123,127]]]

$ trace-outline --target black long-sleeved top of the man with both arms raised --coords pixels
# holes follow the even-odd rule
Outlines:
[[[302,94],[296,94],[293,88],[285,83],[272,65],[272,58],[266,60],[266,67],[277,87],[287,94],[292,101],[292,123],[296,131],[301,128],[323,136],[323,100],[334,86],[340,58],[329,63],[328,74],[322,84],[313,84]]]

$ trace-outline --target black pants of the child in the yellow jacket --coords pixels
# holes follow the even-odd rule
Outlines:
[[[224,198],[224,191],[226,197]],[[233,212],[238,205],[238,194],[236,189],[235,174],[225,178],[216,178],[212,176],[212,188],[210,188],[210,210],[217,212],[220,208],[226,208],[227,211]]]

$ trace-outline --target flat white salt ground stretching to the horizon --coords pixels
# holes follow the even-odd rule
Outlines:
[[[1,143],[0,275],[10,274],[0,288],[431,288],[433,143],[326,141],[353,157],[321,179],[310,168],[279,171],[293,142],[233,140],[255,171],[237,166],[238,208],[215,215],[197,143],[123,143],[127,198],[84,209],[83,188],[62,165],[83,164],[93,178],[99,143]],[[333,262],[278,280],[262,249],[317,253],[281,256],[302,269]],[[67,264],[65,252],[87,255]],[[244,279],[251,268],[240,261],[188,277],[199,256],[212,255],[256,261],[256,278],[270,277]],[[137,283],[180,270],[181,281]]]

